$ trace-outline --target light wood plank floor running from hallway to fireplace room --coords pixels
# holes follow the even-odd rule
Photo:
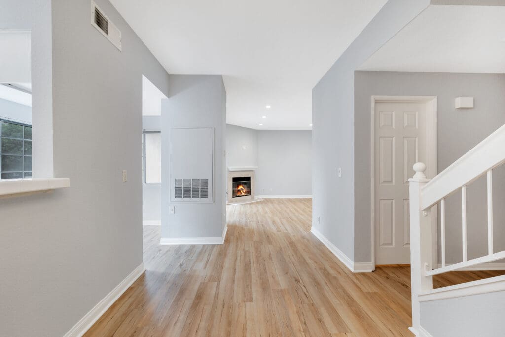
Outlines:
[[[86,335],[412,335],[409,267],[349,272],[310,233],[311,205],[228,206],[224,245],[160,246],[160,227],[144,227],[147,271]],[[494,274],[451,273],[434,283]]]

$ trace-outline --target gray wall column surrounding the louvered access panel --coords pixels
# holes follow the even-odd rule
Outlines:
[[[226,226],[226,90],[220,75],[171,75],[168,100],[162,100],[161,200],[163,237],[220,237]],[[170,128],[214,128],[214,203],[170,202]],[[181,139],[184,141],[184,139]]]

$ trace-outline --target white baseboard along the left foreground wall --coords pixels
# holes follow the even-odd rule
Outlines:
[[[106,297],[98,302],[84,317],[82,317],[63,337],[81,337],[90,327],[102,317],[118,298],[135,282],[135,280],[145,271],[145,266],[141,263],[124,280],[121,281]]]

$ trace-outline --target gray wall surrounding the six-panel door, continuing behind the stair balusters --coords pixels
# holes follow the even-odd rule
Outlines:
[[[372,95],[437,96],[438,171],[505,123],[505,75],[357,71],[355,74],[355,261],[371,261],[370,158]],[[455,109],[455,98],[473,96],[474,109]],[[505,249],[505,168],[495,170],[495,251]],[[469,185],[468,258],[487,254],[485,177]],[[462,261],[461,194],[446,199],[446,261]],[[439,253],[440,258],[440,253]]]

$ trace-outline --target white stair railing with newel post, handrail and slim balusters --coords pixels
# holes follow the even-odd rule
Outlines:
[[[411,287],[412,330],[419,335],[419,295],[432,290],[432,276],[453,270],[505,258],[505,251],[493,249],[493,191],[492,170],[505,162],[505,125],[501,126],[476,147],[458,159],[433,179],[427,179],[426,165],[416,163],[410,181],[411,222]],[[487,236],[488,254],[468,260],[467,255],[467,185],[487,176]],[[461,190],[462,255],[463,261],[447,265],[445,260],[445,199]],[[428,214],[440,204],[441,267],[432,266],[432,228]],[[436,216],[436,215],[434,215]]]

